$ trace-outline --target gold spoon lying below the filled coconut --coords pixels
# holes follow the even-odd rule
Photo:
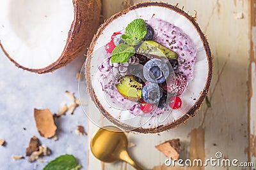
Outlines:
[[[103,162],[115,162],[124,160],[135,169],[143,170],[127,152],[128,139],[125,133],[114,126],[100,128],[92,136],[91,150],[97,159]]]

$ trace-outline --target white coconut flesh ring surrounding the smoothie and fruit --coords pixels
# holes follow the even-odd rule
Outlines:
[[[104,60],[103,56],[106,54],[102,46],[109,42],[113,32],[125,29],[125,27],[136,18],[150,20],[153,15],[156,18],[161,18],[166,22],[176,25],[182,29],[184,33],[188,34],[195,43],[197,55],[194,64],[193,80],[189,82],[186,90],[180,96],[180,99],[182,99],[182,106],[179,110],[172,110],[171,113],[163,113],[156,117],[134,116],[128,110],[118,110],[109,106],[109,102],[106,101],[106,98],[103,95],[104,92],[102,91],[102,86],[94,76],[99,72],[98,67],[96,66],[99,66],[100,62]],[[105,58],[108,56],[109,55],[105,55]],[[92,87],[102,107],[109,113],[109,115],[111,115],[111,117],[115,118],[117,122],[122,122],[132,127],[143,127],[145,129],[171,124],[175,120],[179,120],[184,116],[184,113],[187,113],[193,106],[195,106],[196,101],[198,101],[202,95],[202,91],[207,84],[208,69],[209,63],[204,48],[204,42],[201,40],[200,34],[196,31],[195,26],[183,15],[161,6],[149,6],[131,10],[109,23],[95,43],[92,60],[90,62]]]

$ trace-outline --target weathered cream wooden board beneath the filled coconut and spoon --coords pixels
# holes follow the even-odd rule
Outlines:
[[[107,3],[108,2],[108,3]],[[112,13],[122,10],[125,5],[138,3],[139,1],[105,0],[103,13],[109,17]],[[251,115],[252,129],[255,131],[255,108],[249,112],[248,86],[250,66],[250,34],[249,13],[250,1],[164,1],[170,4],[179,3],[180,8],[184,6],[185,11],[191,15],[198,13],[198,23],[206,33],[214,55],[214,77],[212,80],[209,99],[211,108],[202,106],[198,114],[191,118],[186,124],[180,125],[169,132],[160,134],[128,134],[129,141],[136,146],[129,149],[131,156],[147,169],[173,169],[173,167],[162,166],[166,157],[154,146],[168,139],[180,138],[183,151],[181,159],[209,159],[215,158],[216,152],[221,152],[223,157],[238,159],[246,162],[253,152],[249,152],[250,134],[248,129],[248,114]],[[126,3],[126,4],[125,4]],[[124,5],[125,4],[125,5]],[[206,10],[207,9],[207,10]],[[243,13],[243,18],[237,14]],[[256,36],[255,36],[256,37]],[[256,41],[255,41],[256,42]],[[253,68],[253,65],[252,65]],[[250,73],[251,74],[251,73]],[[255,70],[252,71],[255,74]],[[256,80],[252,85],[256,87]],[[255,96],[255,94],[253,94]],[[252,98],[251,103],[255,103]],[[93,103],[89,105],[89,111],[94,115],[100,114]],[[251,104],[252,106],[252,104]],[[253,105],[255,107],[255,105]],[[102,117],[97,118],[102,124],[109,124]],[[88,124],[89,143],[92,133],[97,126]],[[252,142],[251,142],[252,143]],[[252,147],[251,147],[252,150]],[[88,152],[88,169],[133,169],[124,162],[115,164],[103,164]],[[252,157],[255,159],[255,157]],[[186,167],[175,167],[175,169],[188,169]],[[227,169],[226,167],[189,167],[189,169]]]

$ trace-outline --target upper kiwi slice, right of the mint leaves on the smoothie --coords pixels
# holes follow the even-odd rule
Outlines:
[[[137,53],[154,55],[157,57],[166,57],[168,59],[177,59],[177,53],[152,40],[141,43]]]

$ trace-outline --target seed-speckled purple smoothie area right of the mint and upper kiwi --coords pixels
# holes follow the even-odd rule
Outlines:
[[[147,24],[154,29],[153,41],[160,43],[178,54],[179,67],[175,73],[182,74],[187,82],[193,79],[196,48],[192,39],[189,38],[179,27],[159,18],[151,18]]]

